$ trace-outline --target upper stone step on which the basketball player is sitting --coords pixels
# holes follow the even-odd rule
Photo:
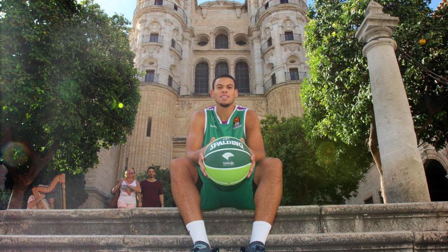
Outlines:
[[[253,211],[204,212],[209,235],[250,234]],[[44,228],[43,228],[44,227]],[[448,202],[279,207],[271,234],[446,231]],[[6,210],[0,234],[187,235],[177,208]]]

